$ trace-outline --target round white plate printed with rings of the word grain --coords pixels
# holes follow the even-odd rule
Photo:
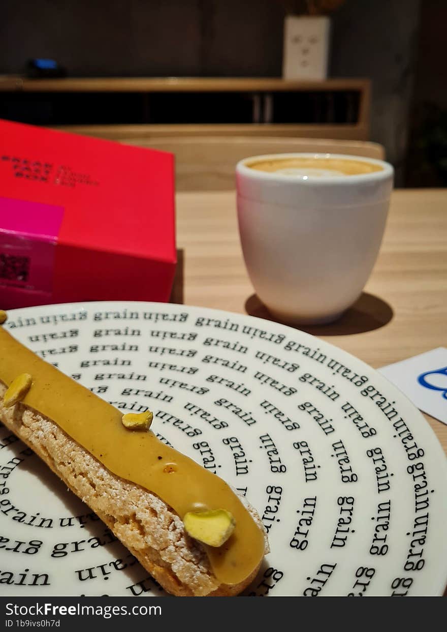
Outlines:
[[[447,462],[382,375],[285,325],[166,303],[11,310],[21,343],[244,495],[271,552],[244,593],[441,595]],[[4,596],[165,595],[0,424]]]

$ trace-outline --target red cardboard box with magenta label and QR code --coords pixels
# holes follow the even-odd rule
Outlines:
[[[174,157],[0,120],[0,307],[167,301]]]

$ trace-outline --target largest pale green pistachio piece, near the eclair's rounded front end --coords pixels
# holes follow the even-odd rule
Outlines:
[[[186,532],[210,547],[221,547],[234,531],[235,520],[226,509],[211,511],[188,511],[183,524]]]

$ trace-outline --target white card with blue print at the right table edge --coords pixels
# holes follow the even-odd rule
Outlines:
[[[414,358],[379,368],[408,399],[440,422],[447,423],[447,349],[439,347]]]

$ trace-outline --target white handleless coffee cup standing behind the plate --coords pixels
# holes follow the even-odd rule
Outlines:
[[[315,169],[268,173],[249,166],[290,158],[314,158]],[[320,170],[321,158],[379,170]],[[242,251],[261,301],[290,324],[336,320],[361,295],[376,261],[393,167],[342,154],[271,154],[238,162],[236,181]]]

